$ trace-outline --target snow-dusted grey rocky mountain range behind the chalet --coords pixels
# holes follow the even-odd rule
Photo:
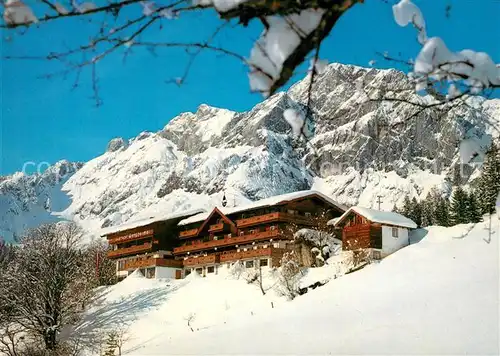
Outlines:
[[[11,239],[55,213],[97,233],[130,219],[209,208],[220,204],[223,191],[229,205],[314,188],[346,205],[377,207],[380,196],[382,208],[390,209],[406,194],[446,192],[460,141],[472,138],[485,151],[495,132],[488,122],[500,115],[500,100],[418,114],[406,103],[369,101],[367,92],[380,97],[410,88],[407,78],[396,70],[331,64],[312,94],[314,134],[306,144],[291,136],[283,111],[304,107],[308,83],[248,112],[201,105],[159,132],[113,139],[103,155],[64,181],[52,184],[50,174],[3,177],[0,234]],[[51,169],[65,165],[56,166]],[[466,170],[464,182],[473,171]],[[44,209],[47,199],[57,201],[57,209]]]

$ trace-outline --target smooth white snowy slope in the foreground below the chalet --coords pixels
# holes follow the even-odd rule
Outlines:
[[[130,277],[103,291],[80,331],[120,325],[126,355],[498,354],[498,219],[492,227],[418,230],[411,246],[293,301],[229,274]]]

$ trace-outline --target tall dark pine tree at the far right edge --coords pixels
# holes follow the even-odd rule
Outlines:
[[[479,205],[482,214],[495,212],[495,203],[500,192],[500,152],[495,144],[487,152],[482,174],[479,178]]]

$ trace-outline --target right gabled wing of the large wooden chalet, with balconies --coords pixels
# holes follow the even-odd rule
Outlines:
[[[214,208],[179,223],[179,246],[186,274],[217,273],[242,261],[245,267],[277,266],[293,232],[312,227],[315,218],[342,215],[345,209],[325,195],[302,191],[263,199],[245,206]]]

